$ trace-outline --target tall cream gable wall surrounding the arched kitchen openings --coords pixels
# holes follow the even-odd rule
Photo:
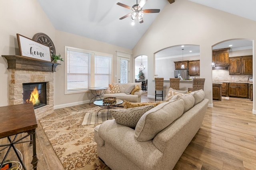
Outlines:
[[[255,21],[188,0],[176,0],[167,4],[160,12],[134,47],[133,55],[147,55],[149,67],[154,68],[154,53],[157,51],[174,45],[199,45],[200,77],[206,78],[204,92],[210,100],[209,106],[212,106],[212,46],[224,40],[238,38],[254,41],[255,30]],[[256,47],[253,48],[255,51]],[[154,74],[154,70],[149,70],[148,79],[153,80]],[[148,96],[154,97],[153,81],[148,81]],[[255,95],[253,100],[256,100]]]

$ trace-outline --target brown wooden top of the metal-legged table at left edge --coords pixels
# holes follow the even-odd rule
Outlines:
[[[0,107],[0,139],[37,128],[32,103]]]

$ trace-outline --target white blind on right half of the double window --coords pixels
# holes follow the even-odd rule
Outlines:
[[[94,87],[108,87],[111,84],[112,57],[94,55]]]

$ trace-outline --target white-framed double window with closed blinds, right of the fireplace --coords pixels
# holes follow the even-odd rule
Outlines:
[[[65,94],[111,84],[112,55],[65,47],[65,57]]]

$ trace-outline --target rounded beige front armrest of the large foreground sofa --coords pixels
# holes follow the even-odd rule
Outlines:
[[[163,153],[154,146],[152,140],[137,141],[134,138],[134,129],[120,125],[112,119],[104,121],[98,132],[99,136],[105,141],[105,145],[109,143],[140,168],[154,169],[152,167],[161,164]]]

